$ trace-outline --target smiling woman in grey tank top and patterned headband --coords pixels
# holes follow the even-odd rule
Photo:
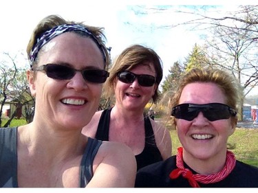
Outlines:
[[[0,187],[133,187],[131,149],[81,134],[109,76],[103,38],[100,27],[56,15],[36,26],[27,48],[34,119],[0,129]]]

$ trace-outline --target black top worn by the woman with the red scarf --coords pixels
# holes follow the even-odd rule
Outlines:
[[[180,175],[177,179],[170,179],[169,174],[176,167],[175,155],[160,161],[153,163],[150,166],[142,168],[136,175],[136,187],[137,188],[191,188],[188,180]],[[189,166],[184,163],[185,168]],[[193,171],[191,168],[189,168]],[[233,171],[217,183],[199,183],[201,188],[257,188],[258,187],[258,168],[247,165],[241,161],[237,161]]]

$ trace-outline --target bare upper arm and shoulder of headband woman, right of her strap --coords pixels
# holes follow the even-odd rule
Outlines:
[[[136,158],[125,144],[105,141],[94,159],[94,176],[87,188],[133,188]]]

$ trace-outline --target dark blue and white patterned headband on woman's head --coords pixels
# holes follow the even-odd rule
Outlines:
[[[104,61],[106,62],[106,54],[105,54],[105,51],[103,50],[103,45],[101,45],[98,42],[98,39],[91,32],[89,32],[82,25],[64,24],[64,25],[58,25],[56,27],[53,27],[51,30],[47,30],[40,36],[40,38],[37,38],[36,44],[34,45],[32,51],[30,52],[30,67],[32,67],[32,63],[36,60],[36,56],[38,55],[39,50],[43,47],[43,45],[45,45],[46,43],[48,43],[49,41],[51,41],[53,38],[55,38],[60,34],[63,34],[65,32],[72,32],[72,31],[80,31],[87,34],[87,36],[89,36],[89,38],[91,38],[96,43],[96,45],[98,45],[100,52],[103,54]]]

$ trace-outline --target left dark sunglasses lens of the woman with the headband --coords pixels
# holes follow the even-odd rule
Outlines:
[[[47,76],[56,80],[68,80],[74,76],[75,71],[63,65],[47,65],[45,68]]]

